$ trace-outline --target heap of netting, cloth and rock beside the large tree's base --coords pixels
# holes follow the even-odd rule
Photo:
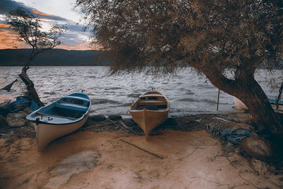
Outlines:
[[[217,137],[226,150],[230,147],[233,150],[241,151],[241,153],[248,155],[246,156],[247,158],[265,162],[273,161],[281,164],[282,162],[279,161],[282,160],[277,160],[277,158],[280,156],[278,154],[282,154],[282,152],[278,152],[278,149],[275,151],[272,142],[258,136],[252,125],[250,125],[250,120],[246,118],[241,119],[242,115],[238,117],[238,122],[234,122],[234,118],[226,120],[226,118],[216,117],[214,120],[219,120],[219,122],[208,123],[207,132],[213,137]],[[231,117],[231,115],[228,115],[228,117]]]

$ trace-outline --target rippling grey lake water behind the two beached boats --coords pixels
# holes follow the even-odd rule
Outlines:
[[[23,95],[24,84],[18,77],[21,67],[0,67],[0,88],[18,78],[10,92],[0,90],[0,103],[6,99],[16,100]],[[202,76],[197,76],[191,68],[178,71],[174,76],[154,77],[141,74],[122,74],[109,76],[108,67],[31,67],[28,76],[43,103],[66,96],[69,93],[85,91],[91,98],[91,114],[118,114],[128,117],[129,106],[141,93],[151,87],[163,93],[170,101],[169,115],[196,113],[238,112],[233,108],[233,99],[221,91],[219,111],[216,111],[218,88]],[[282,72],[275,71],[272,76],[260,70],[255,78],[269,98],[278,96],[282,83]],[[275,82],[270,85],[269,81]]]

